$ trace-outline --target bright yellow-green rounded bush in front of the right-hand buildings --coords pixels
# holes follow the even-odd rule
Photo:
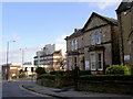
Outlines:
[[[131,75],[126,65],[111,65],[105,69],[106,75]]]

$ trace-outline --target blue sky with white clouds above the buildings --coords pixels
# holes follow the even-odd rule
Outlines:
[[[83,2],[82,2],[83,1]],[[116,19],[115,10],[120,4],[109,0],[102,2],[2,2],[2,46],[0,65],[6,64],[7,42],[10,42],[9,63],[33,62],[37,51],[44,44],[58,44],[65,52],[65,36],[74,29],[82,29],[92,12]],[[0,37],[1,38],[1,37]],[[1,42],[0,42],[1,43]],[[25,48],[27,47],[27,48]]]

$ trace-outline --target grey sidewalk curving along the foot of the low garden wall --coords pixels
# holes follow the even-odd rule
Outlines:
[[[105,98],[105,99],[112,99],[112,98],[121,98],[121,99],[132,99],[131,96],[125,95],[115,95],[115,94],[99,94],[99,92],[91,92],[91,91],[75,91],[72,87],[65,87],[62,89],[59,88],[49,88],[49,87],[42,87],[37,85],[35,82],[27,82],[22,85],[23,88],[31,90],[37,94],[51,96],[54,98],[78,98],[78,97],[95,97],[95,98]]]

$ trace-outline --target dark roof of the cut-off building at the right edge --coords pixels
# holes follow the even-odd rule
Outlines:
[[[122,11],[129,10],[133,6],[133,0],[131,0],[131,1],[132,2],[121,2],[121,4],[119,6],[119,8],[115,11],[122,12]]]

